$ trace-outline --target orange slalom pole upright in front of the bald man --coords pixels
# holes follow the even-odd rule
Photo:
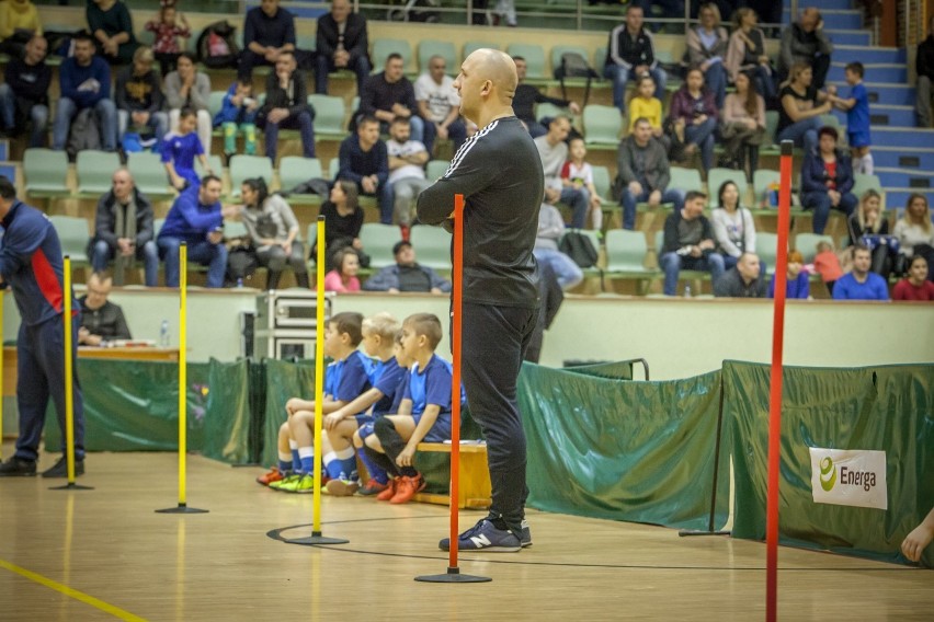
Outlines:
[[[451,357],[451,549],[447,565],[457,567],[460,499],[460,339],[464,313],[464,195],[454,195],[454,261],[452,262]]]

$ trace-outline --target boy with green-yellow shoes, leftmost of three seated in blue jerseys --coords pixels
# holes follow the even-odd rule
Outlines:
[[[321,413],[329,415],[345,406],[361,393],[369,389],[373,361],[357,349],[362,337],[363,315],[360,313],[338,313],[328,321],[324,331],[324,354],[334,362],[328,366],[324,376],[324,400]],[[277,491],[287,493],[310,493],[314,487],[312,469],[315,457],[315,402],[293,398],[286,404],[288,412],[287,445],[298,452],[298,465],[295,473],[280,482],[270,484]],[[283,430],[280,430],[282,439]],[[291,442],[289,442],[291,441]],[[280,460],[282,460],[282,440],[280,440]],[[335,450],[328,436],[321,438],[321,456],[324,466],[322,482],[329,479],[353,479],[356,476],[356,458],[353,447]]]

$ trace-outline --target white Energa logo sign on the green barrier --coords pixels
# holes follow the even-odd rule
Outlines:
[[[888,509],[885,451],[809,449],[816,504]]]

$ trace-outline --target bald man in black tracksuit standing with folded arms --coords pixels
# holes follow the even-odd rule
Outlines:
[[[459,535],[464,551],[514,552],[532,544],[516,379],[538,316],[532,249],[545,180],[535,142],[512,110],[517,82],[508,55],[478,49],[467,57],[454,88],[460,114],[480,129],[418,203],[422,222],[449,228],[454,195],[465,199],[462,375],[470,414],[487,438],[492,505]],[[445,538],[440,546],[451,542]]]

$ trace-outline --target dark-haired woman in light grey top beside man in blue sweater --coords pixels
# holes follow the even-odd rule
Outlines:
[[[295,273],[298,287],[308,287],[305,245],[298,240],[298,220],[292,207],[277,194],[269,194],[262,177],[243,180],[240,186],[243,209],[240,218],[250,232],[257,263],[269,269],[266,289],[277,289],[286,266]]]

